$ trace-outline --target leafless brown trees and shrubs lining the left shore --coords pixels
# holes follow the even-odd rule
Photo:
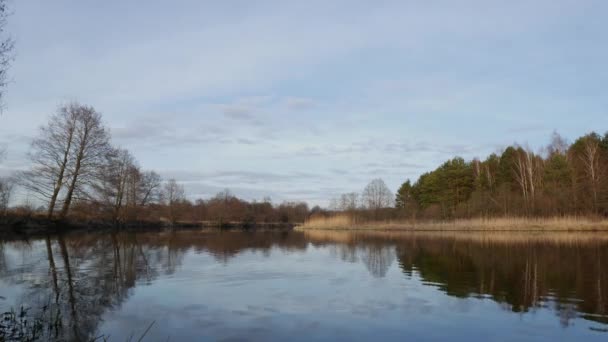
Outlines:
[[[142,169],[131,152],[114,146],[101,114],[78,103],[60,107],[40,128],[28,159],[30,169],[0,179],[0,216],[222,225],[303,222],[308,214],[305,203],[248,202],[228,190],[192,202],[177,181],[163,181],[158,173]],[[37,205],[9,208],[15,185],[33,195]]]

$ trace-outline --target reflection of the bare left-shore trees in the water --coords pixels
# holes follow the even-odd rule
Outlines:
[[[102,315],[120,308],[135,286],[150,284],[159,273],[173,274],[188,250],[227,263],[243,250],[268,253],[274,246],[303,250],[306,245],[301,234],[271,233],[74,234],[5,241],[0,277],[24,289],[14,303],[30,308],[32,319],[53,323],[37,332],[41,340],[81,341],[95,338]]]

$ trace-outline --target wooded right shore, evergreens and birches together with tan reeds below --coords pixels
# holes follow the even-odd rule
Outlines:
[[[554,133],[538,153],[515,144],[483,161],[450,159],[416,182],[406,180],[394,208],[369,200],[380,193],[369,189],[382,188],[375,180],[362,196],[333,199],[331,211],[313,213],[302,228],[606,230],[607,170],[608,133],[573,144]]]

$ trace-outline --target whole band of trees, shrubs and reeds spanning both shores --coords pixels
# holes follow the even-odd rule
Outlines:
[[[360,195],[332,200],[331,211],[309,211],[303,202],[248,202],[228,190],[191,201],[178,181],[142,170],[128,150],[112,146],[101,114],[78,103],[60,107],[40,128],[29,157],[31,168],[16,179],[42,205],[9,209],[14,181],[0,179],[0,219],[25,213],[121,225],[251,227],[306,221],[302,228],[608,229],[608,134],[590,133],[571,145],[554,134],[539,153],[514,145],[484,161],[456,157],[414,183],[407,180],[395,196],[374,179]]]

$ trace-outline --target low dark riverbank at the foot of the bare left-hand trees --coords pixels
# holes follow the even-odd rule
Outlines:
[[[67,232],[163,231],[163,230],[277,230],[294,228],[283,222],[176,222],[104,220],[56,220],[37,216],[6,216],[0,218],[0,237],[29,237]]]

